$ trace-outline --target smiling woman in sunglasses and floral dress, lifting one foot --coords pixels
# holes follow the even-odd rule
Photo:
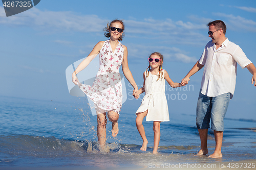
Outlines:
[[[104,29],[106,41],[98,42],[89,56],[84,59],[72,74],[72,81],[78,84],[79,88],[94,102],[97,113],[97,135],[100,150],[105,148],[106,141],[106,112],[112,122],[112,136],[118,134],[119,112],[122,106],[122,84],[119,74],[119,67],[125,78],[134,87],[134,93],[138,92],[138,87],[133,79],[127,62],[127,47],[119,41],[124,37],[124,24],[121,20],[113,20]],[[76,74],[87,67],[87,65],[99,54],[100,67],[94,80],[93,86],[81,84]],[[90,70],[88,70],[90,71]]]

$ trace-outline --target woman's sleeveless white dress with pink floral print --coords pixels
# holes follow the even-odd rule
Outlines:
[[[119,42],[112,51],[106,40],[99,52],[100,66],[92,86],[78,83],[79,88],[93,101],[95,107],[119,114],[122,107],[122,83],[119,67],[123,60],[123,46]]]

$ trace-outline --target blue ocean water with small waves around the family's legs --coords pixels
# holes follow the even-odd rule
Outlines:
[[[133,108],[135,111],[137,108]],[[132,108],[131,108],[132,110]],[[96,116],[87,101],[71,103],[0,97],[0,168],[71,167],[143,168],[152,164],[212,163],[256,158],[256,120],[225,119],[223,158],[195,157],[200,137],[195,112],[178,113],[161,123],[159,154],[153,155],[153,122],[144,122],[148,139],[146,152],[133,112],[121,110],[119,133],[111,136],[107,126],[107,150],[100,152]],[[208,132],[208,150],[213,153],[215,138]]]

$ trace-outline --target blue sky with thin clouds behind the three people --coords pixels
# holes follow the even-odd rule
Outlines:
[[[122,43],[128,48],[129,67],[138,85],[143,83],[147,58],[155,51],[163,54],[163,69],[170,78],[180,82],[210,41],[206,24],[216,19],[226,23],[226,37],[256,64],[255,1],[42,0],[10,17],[0,6],[0,95],[75,103],[77,98],[68,91],[66,68],[87,57],[98,41],[107,39],[102,29],[115,18],[124,20]],[[200,70],[190,78],[190,88],[168,87],[170,117],[195,114],[202,73]],[[125,84],[128,96],[121,111],[134,114],[140,100],[129,96],[132,88],[127,81]],[[256,119],[255,91],[250,72],[238,66],[236,90],[226,117]]]

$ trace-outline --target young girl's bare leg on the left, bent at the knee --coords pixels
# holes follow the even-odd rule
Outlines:
[[[145,134],[145,130],[144,127],[142,125],[143,122],[143,118],[147,115],[147,110],[145,112],[142,113],[137,113],[137,117],[136,117],[136,126],[137,129],[140,133],[140,136],[142,137],[143,143],[142,143],[142,147],[140,148],[141,151],[146,151],[146,145],[147,145],[147,139],[146,139],[146,134]]]

